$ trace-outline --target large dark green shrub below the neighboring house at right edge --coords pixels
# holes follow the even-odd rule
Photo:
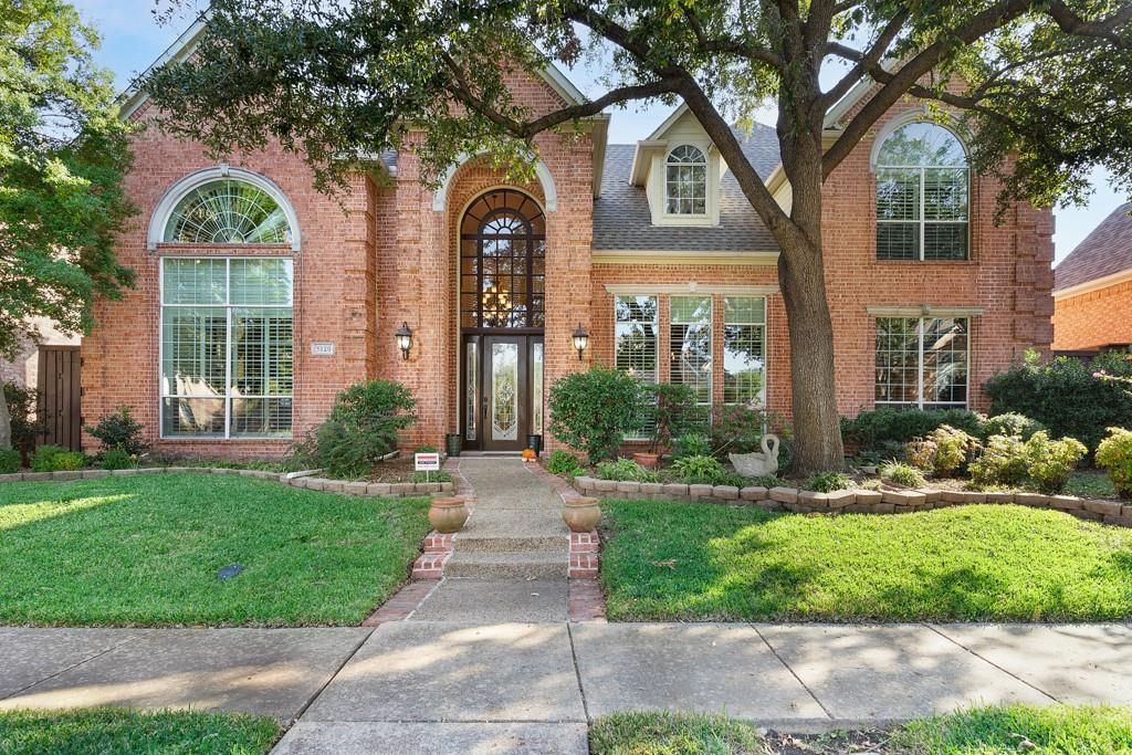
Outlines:
[[[1132,389],[1120,378],[1132,376],[1127,354],[1098,355],[1091,366],[1058,357],[1026,363],[986,384],[994,414],[1019,412],[1041,422],[1055,437],[1078,438],[1095,449],[1104,428],[1132,427]]]

